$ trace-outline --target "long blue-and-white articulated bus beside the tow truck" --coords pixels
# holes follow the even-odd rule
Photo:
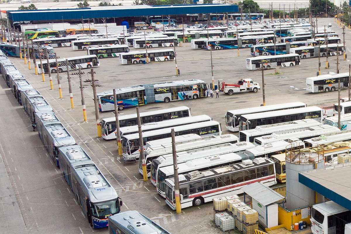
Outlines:
[[[150,103],[204,98],[207,84],[202,80],[166,81],[116,89],[118,109]],[[113,111],[113,92],[98,93],[99,110]]]

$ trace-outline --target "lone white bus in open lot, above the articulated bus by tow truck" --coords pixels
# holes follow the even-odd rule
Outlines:
[[[173,61],[174,51],[173,49],[149,50],[147,51],[147,57],[149,62]],[[121,64],[138,64],[146,62],[146,51],[120,53],[119,62]]]

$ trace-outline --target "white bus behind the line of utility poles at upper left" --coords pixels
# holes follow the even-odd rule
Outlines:
[[[78,57],[67,58],[69,63],[69,69],[78,69],[78,68],[92,68],[100,66],[99,59],[96,55],[83,55]],[[49,66],[51,69],[51,73],[56,73],[57,70],[59,72],[67,71],[66,58],[59,58],[58,67],[56,67],[55,59],[49,59]],[[47,66],[47,61],[42,61],[44,73],[49,72],[49,68]],[[40,64],[37,63],[38,73],[41,74]]]

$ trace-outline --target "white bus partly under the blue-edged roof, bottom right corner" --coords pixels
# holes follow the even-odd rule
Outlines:
[[[351,210],[327,201],[312,206],[312,234],[350,233]],[[345,232],[345,230],[347,230]]]

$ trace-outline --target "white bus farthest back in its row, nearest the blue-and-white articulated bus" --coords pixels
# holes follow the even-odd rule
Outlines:
[[[161,109],[157,111],[147,111],[140,113],[140,123],[146,124],[164,120],[178,119],[191,116],[190,108],[186,106]],[[120,115],[119,126],[127,127],[137,125],[137,114]],[[116,139],[116,118],[104,118],[100,122],[102,139]]]

